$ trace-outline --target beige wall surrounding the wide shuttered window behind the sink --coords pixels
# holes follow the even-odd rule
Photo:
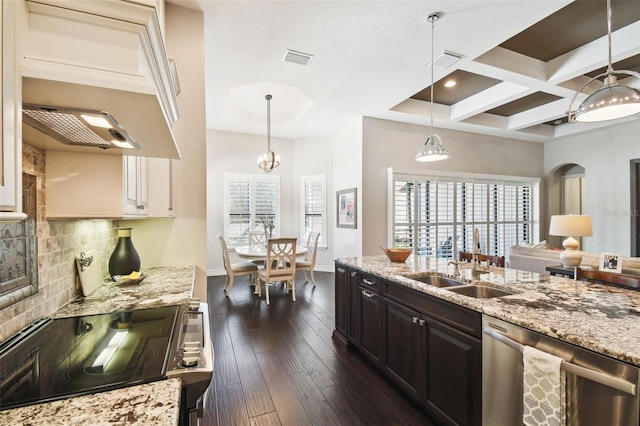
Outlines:
[[[451,157],[418,163],[414,157],[429,128],[365,118],[362,142],[362,254],[380,254],[387,245],[388,167],[403,171],[463,172],[543,178],[544,145],[455,130],[435,129]],[[541,201],[545,199],[541,181]],[[546,208],[541,203],[541,211]]]

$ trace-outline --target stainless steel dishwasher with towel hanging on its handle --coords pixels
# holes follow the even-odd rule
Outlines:
[[[638,426],[639,368],[490,316],[482,319],[482,424],[522,425],[524,345],[562,358],[569,426]]]

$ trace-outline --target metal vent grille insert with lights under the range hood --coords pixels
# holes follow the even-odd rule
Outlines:
[[[140,149],[105,111],[23,104],[22,117],[26,124],[67,145]]]

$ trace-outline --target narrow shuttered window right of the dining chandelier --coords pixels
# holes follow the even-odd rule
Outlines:
[[[325,176],[301,176],[300,199],[303,202],[300,238],[306,242],[309,232],[319,232],[318,247],[326,247],[327,206]]]

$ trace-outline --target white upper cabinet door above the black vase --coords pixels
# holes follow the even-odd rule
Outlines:
[[[149,205],[148,159],[123,156],[124,213],[146,215]]]

